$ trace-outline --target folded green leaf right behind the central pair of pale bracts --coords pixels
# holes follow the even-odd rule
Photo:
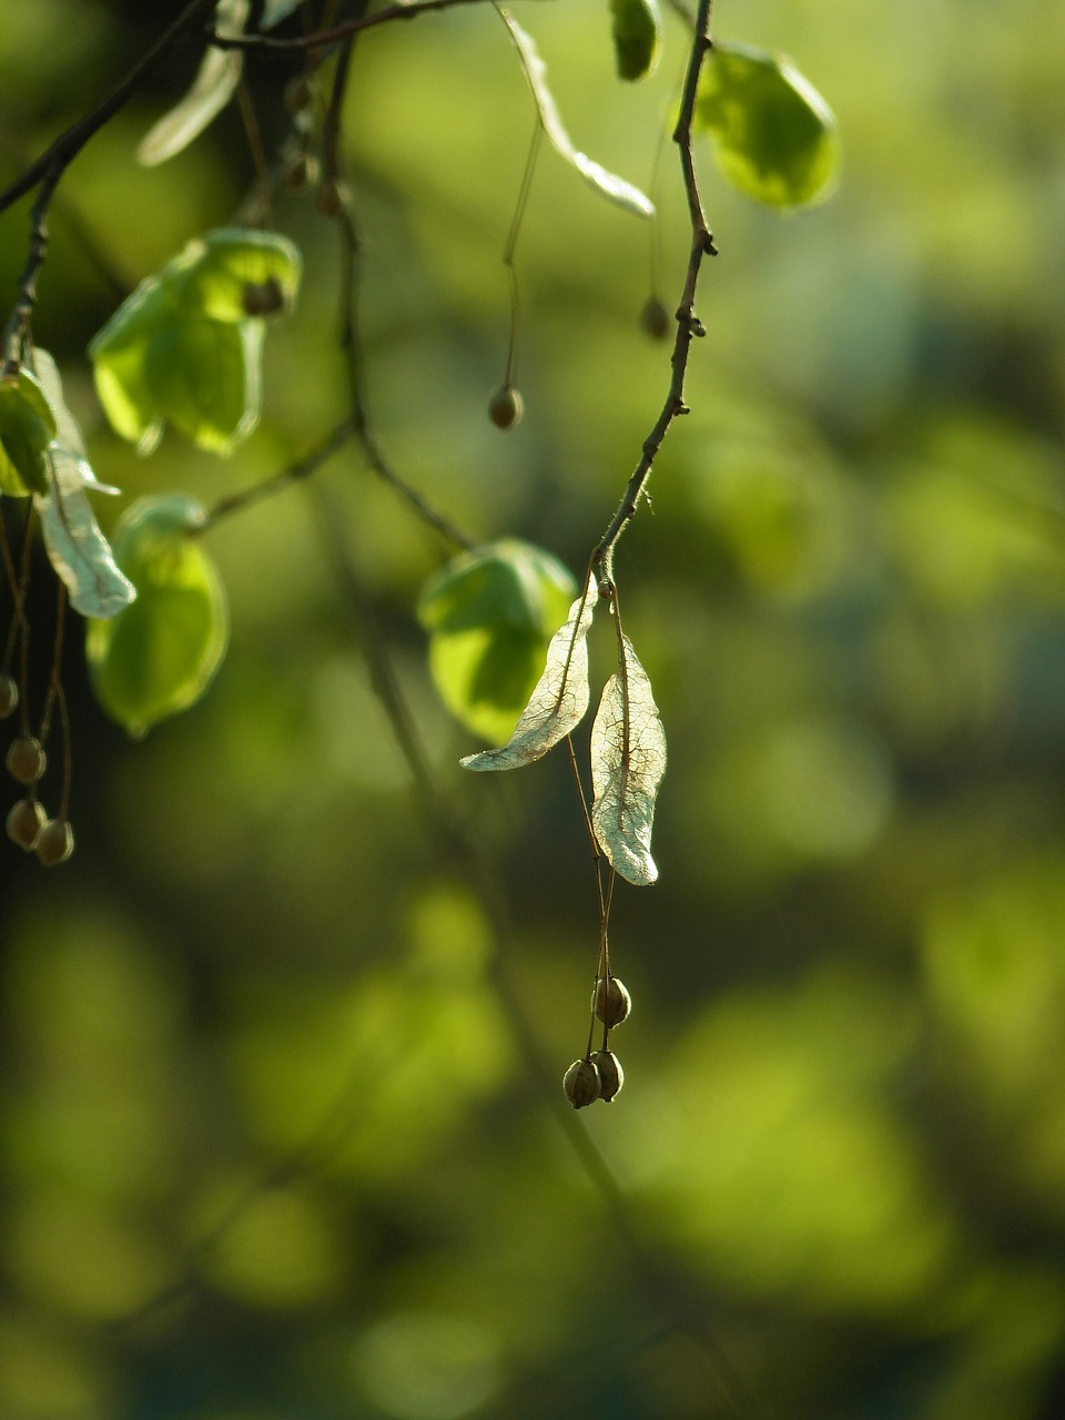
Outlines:
[[[507,740],[574,591],[557,558],[517,538],[463,552],[426,584],[417,616],[430,633],[429,669],[474,734]]]

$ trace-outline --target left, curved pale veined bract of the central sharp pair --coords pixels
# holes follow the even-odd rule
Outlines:
[[[547,665],[510,740],[498,750],[469,754],[467,770],[515,770],[532,764],[569,734],[588,710],[588,629],[599,599],[595,577],[551,638]]]

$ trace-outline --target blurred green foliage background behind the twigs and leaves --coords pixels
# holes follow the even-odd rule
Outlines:
[[[4,0],[0,178],[175,10]],[[653,185],[673,307],[670,152],[652,175],[682,24],[629,89],[605,3],[515,13],[577,145]],[[1065,1413],[1065,9],[717,0],[716,28],[792,55],[845,172],[781,219],[700,152],[721,254],[692,415],[618,555],[670,746],[660,882],[622,885],[613,916],[623,1093],[567,1116],[557,1083],[598,927],[568,767],[457,768],[479,746],[413,618],[443,550],[349,450],[212,534],[233,638],[187,716],[128,741],[68,645],[78,849],[55,872],[0,849],[4,1420]],[[40,283],[37,339],[124,503],[212,501],[344,409],[312,197],[275,206],[305,285],[230,462],[173,435],[139,460],[94,405],[89,337],[251,175],[234,112],[133,166],[196,62],[70,169]],[[248,67],[271,152],[295,68]],[[531,122],[487,6],[359,43],[365,381],[432,503],[579,572],[669,351],[639,329],[650,227],[544,152],[525,419],[488,423]],[[9,294],[26,230],[23,202],[0,220]],[[410,791],[368,604],[506,937]]]

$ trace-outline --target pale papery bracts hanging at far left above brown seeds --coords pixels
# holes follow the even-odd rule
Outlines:
[[[84,490],[118,490],[98,483],[85,459],[81,429],[62,398],[55,361],[38,348],[34,351],[34,365],[55,415],[55,439],[48,444],[48,491],[37,494],[34,500],[48,561],[67,584],[74,611],[82,616],[106,619],[128,606],[136,592],[132,582],[119,572]]]

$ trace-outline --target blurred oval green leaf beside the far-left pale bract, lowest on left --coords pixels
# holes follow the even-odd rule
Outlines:
[[[226,652],[224,591],[196,538],[204,518],[192,498],[141,498],[115,532],[136,601],[89,621],[85,653],[97,699],[135,736],[199,700]]]

